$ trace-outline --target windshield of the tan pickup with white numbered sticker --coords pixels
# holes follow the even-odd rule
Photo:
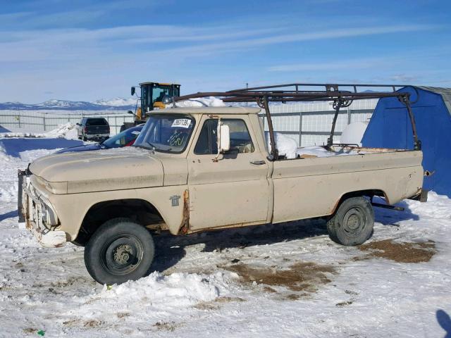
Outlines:
[[[151,115],[134,146],[181,153],[191,137],[194,119],[187,115]]]

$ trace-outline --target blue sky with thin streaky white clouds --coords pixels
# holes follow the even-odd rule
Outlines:
[[[1,1],[0,101],[284,82],[451,87],[451,1]]]

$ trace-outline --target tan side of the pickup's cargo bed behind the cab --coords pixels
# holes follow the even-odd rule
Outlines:
[[[345,147],[327,155],[273,162],[274,223],[331,215],[348,192],[368,191],[388,204],[421,192],[421,151]]]

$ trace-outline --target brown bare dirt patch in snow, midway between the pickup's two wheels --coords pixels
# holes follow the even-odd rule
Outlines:
[[[282,286],[296,292],[316,292],[317,287],[329,283],[330,274],[335,273],[333,266],[313,262],[298,262],[288,269],[256,268],[243,263],[223,266],[223,268],[237,273],[246,283],[257,282],[267,286]]]

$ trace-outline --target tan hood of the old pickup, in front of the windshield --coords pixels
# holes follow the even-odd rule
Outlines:
[[[31,163],[30,171],[50,186],[61,182],[54,184],[60,194],[163,185],[161,161],[149,151],[134,147],[52,154]]]

